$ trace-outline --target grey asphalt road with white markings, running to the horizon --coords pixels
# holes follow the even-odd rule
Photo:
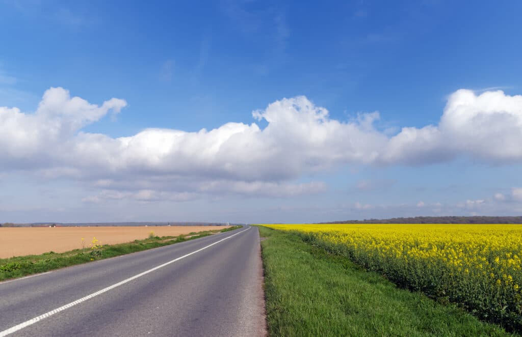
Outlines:
[[[0,336],[260,336],[262,282],[247,226],[2,282]]]

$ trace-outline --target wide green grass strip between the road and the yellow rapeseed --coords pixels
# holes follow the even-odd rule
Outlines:
[[[397,288],[346,257],[259,227],[272,336],[509,336],[455,306]]]

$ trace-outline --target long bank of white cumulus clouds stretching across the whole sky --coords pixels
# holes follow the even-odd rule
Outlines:
[[[144,129],[120,138],[82,131],[126,104],[116,98],[91,104],[51,88],[34,113],[0,107],[0,171],[87,180],[101,192],[85,201],[97,202],[184,200],[223,192],[311,194],[326,186],[296,181],[345,164],[420,165],[459,156],[522,161],[522,96],[500,90],[458,90],[449,96],[438,125],[404,127],[392,136],[374,126],[377,112],[337,121],[303,96],[254,111],[256,121],[267,123],[264,128],[231,122],[197,132]],[[513,197],[522,198],[522,191],[514,189]]]

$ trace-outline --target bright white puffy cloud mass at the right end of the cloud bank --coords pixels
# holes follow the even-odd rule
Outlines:
[[[457,90],[437,126],[406,127],[382,154],[385,163],[425,164],[457,155],[486,162],[522,161],[522,96]]]

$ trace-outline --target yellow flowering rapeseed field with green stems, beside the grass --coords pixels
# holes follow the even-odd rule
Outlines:
[[[522,225],[284,224],[334,254],[508,328],[522,327]]]

